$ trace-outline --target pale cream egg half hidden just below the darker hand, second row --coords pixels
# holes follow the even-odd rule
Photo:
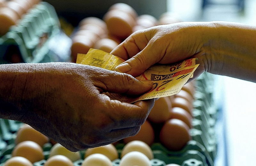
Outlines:
[[[68,157],[72,162],[81,159],[79,152],[71,152],[59,143],[52,146],[49,157],[54,155],[64,155]]]

